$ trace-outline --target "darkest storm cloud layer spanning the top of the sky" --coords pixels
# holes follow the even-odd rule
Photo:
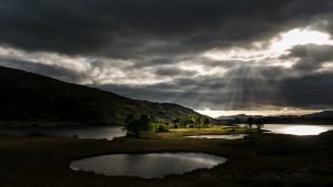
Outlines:
[[[1,0],[0,42],[119,58],[184,53],[246,45],[330,11],[327,0]]]

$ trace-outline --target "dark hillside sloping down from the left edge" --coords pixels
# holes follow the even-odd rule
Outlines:
[[[50,124],[122,125],[128,114],[171,121],[193,110],[127,98],[110,92],[0,66],[0,126]]]

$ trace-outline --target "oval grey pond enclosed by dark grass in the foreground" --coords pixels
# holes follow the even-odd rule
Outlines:
[[[70,168],[107,176],[161,178],[198,168],[212,168],[225,162],[224,157],[203,153],[113,154],[73,160]]]

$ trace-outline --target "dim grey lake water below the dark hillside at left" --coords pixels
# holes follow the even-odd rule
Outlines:
[[[79,138],[91,138],[109,141],[125,135],[121,126],[54,126],[54,127],[23,127],[23,128],[0,128],[0,134],[27,136],[43,134],[53,136],[73,136]]]

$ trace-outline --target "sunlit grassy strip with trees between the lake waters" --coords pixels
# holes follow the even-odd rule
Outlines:
[[[130,114],[124,121],[124,129],[129,137],[137,138],[180,138],[194,135],[234,135],[254,134],[264,132],[264,124],[260,120],[249,117],[248,123],[240,125],[216,125],[210,118],[195,115],[188,115],[183,118],[175,118],[165,122],[161,118]]]

